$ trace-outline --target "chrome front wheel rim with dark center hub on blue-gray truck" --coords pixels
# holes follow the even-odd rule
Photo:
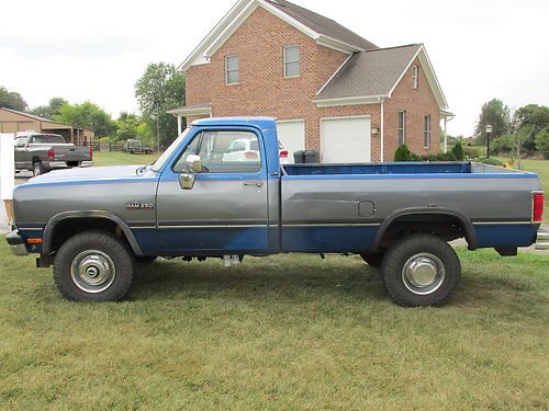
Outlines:
[[[112,259],[104,252],[86,250],[72,260],[70,276],[82,292],[97,294],[112,285],[116,269]]]

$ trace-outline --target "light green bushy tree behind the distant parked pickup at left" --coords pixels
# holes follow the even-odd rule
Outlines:
[[[59,107],[59,114],[54,115],[54,121],[71,124],[77,127],[86,127],[96,132],[96,136],[112,136],[114,122],[111,116],[99,105],[92,102],[82,104],[64,104]]]

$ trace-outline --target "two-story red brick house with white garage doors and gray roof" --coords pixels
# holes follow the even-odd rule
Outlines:
[[[424,45],[379,48],[284,0],[238,1],[180,69],[180,128],[183,117],[272,116],[290,152],[324,162],[391,161],[402,142],[436,153],[451,116]]]

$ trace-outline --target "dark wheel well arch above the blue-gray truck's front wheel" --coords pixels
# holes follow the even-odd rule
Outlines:
[[[74,235],[90,229],[112,232],[125,240],[135,255],[143,255],[127,224],[117,215],[107,212],[66,212],[54,216],[44,229],[42,252],[49,254]]]

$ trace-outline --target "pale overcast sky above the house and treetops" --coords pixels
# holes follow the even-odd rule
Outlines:
[[[294,0],[380,47],[424,43],[456,118],[473,134],[482,104],[549,104],[547,0]],[[235,0],[4,1],[0,85],[31,107],[61,96],[114,117],[136,112],[135,81],[148,62],[176,66]],[[10,18],[7,18],[10,16]]]

